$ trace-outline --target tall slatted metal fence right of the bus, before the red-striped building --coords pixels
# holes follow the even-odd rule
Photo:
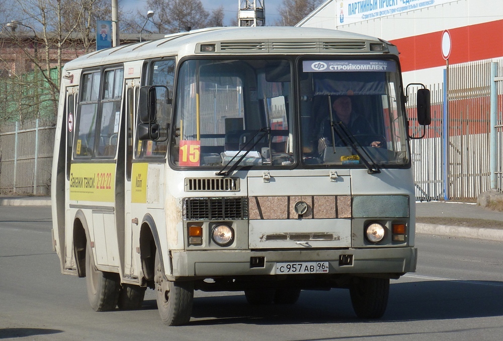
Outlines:
[[[502,76],[501,61],[477,61],[451,65],[444,84],[428,87],[432,125],[411,143],[417,200],[475,199],[503,189]]]

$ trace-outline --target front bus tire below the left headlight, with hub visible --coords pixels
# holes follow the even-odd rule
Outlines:
[[[155,252],[155,299],[162,321],[167,325],[183,325],[190,321],[194,301],[194,282],[168,281]]]

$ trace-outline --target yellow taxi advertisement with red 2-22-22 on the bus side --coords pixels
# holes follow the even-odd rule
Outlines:
[[[115,163],[73,163],[70,200],[114,202]]]

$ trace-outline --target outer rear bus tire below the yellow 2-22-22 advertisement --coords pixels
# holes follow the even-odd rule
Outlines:
[[[86,286],[91,307],[95,311],[114,310],[121,288],[119,274],[103,272],[96,268],[91,246],[86,246]]]

